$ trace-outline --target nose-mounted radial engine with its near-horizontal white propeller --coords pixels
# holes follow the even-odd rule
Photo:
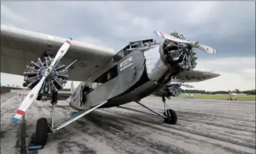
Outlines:
[[[154,33],[165,39],[160,44],[159,52],[163,63],[169,67],[169,73],[160,81],[161,85],[167,84],[172,76],[176,76],[182,71],[193,70],[196,67],[197,63],[195,61],[197,57],[195,57],[196,53],[193,51],[193,48],[199,48],[203,52],[216,54],[214,48],[199,44],[199,42],[186,40],[186,36],[182,33],[175,31],[171,32],[170,35],[160,31],[154,31]],[[174,95],[178,95],[177,86],[172,86],[171,89],[171,91],[175,91]]]

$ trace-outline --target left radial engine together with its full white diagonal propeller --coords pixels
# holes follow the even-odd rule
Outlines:
[[[25,86],[29,87],[31,91],[27,94],[23,102],[20,104],[16,114],[14,116],[13,122],[17,123],[18,120],[25,114],[26,110],[33,103],[35,99],[38,99],[40,94],[47,96],[48,92],[53,93],[53,103],[57,103],[57,91],[63,88],[63,84],[66,83],[68,76],[66,70],[70,65],[75,63],[78,59],[72,62],[65,70],[62,70],[61,75],[61,64],[59,64],[62,57],[70,48],[72,38],[70,37],[64,44],[59,48],[54,59],[51,57],[46,57],[44,61],[38,59],[37,62],[31,62],[31,65],[27,66],[27,72],[25,74]],[[28,79],[29,78],[29,79]],[[31,80],[32,78],[32,80]],[[55,83],[56,82],[56,83]],[[46,97],[43,98],[46,100]]]

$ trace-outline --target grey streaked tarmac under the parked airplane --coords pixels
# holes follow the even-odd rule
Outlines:
[[[255,153],[255,102],[167,99],[177,112],[177,125],[164,123],[135,102],[124,106],[143,112],[98,109],[49,134],[44,149],[29,152],[29,136],[40,117],[50,119],[51,104],[34,102],[14,124],[20,101],[18,93],[1,95],[1,153]],[[141,103],[164,112],[160,97]],[[56,122],[70,117],[72,110],[64,101],[55,109]]]

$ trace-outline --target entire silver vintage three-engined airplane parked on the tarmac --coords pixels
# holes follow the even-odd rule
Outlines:
[[[182,33],[154,33],[165,40],[161,43],[153,39],[130,42],[115,52],[71,37],[66,40],[1,25],[1,72],[25,76],[23,86],[31,89],[16,110],[13,122],[18,122],[35,99],[45,102],[50,95],[53,105],[51,123],[45,118],[38,119],[36,144],[46,144],[49,132],[55,132],[97,108],[129,102],[137,102],[165,119],[165,123],[175,124],[177,115],[165,102],[165,111],[161,114],[141,104],[140,99],[164,89],[171,78],[180,82],[199,82],[219,76],[193,70],[197,65],[193,48],[210,54],[216,54],[216,51],[186,40]],[[68,79],[81,81],[70,96],[70,106],[79,112],[54,125],[55,106],[60,97],[58,91]]]

